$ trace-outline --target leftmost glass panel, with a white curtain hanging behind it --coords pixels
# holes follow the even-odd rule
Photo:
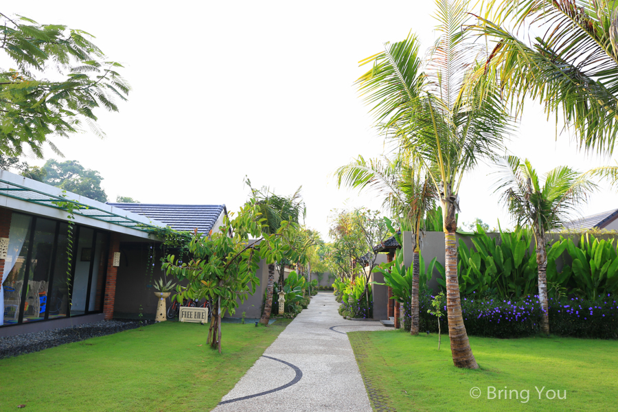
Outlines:
[[[0,297],[0,325],[12,325],[19,321],[24,305],[21,301],[28,249],[30,247],[30,224],[32,217],[14,213],[9,231],[9,246]]]

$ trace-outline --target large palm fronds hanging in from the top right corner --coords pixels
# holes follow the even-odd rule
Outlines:
[[[567,126],[574,126],[580,147],[613,151],[618,133],[615,2],[488,0],[479,23],[470,29],[496,42],[477,78],[498,78],[505,98],[518,110],[531,98],[548,115],[562,113]],[[524,40],[536,30],[544,34]]]

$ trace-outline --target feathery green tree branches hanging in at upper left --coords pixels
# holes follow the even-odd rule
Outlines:
[[[91,34],[65,25],[39,24],[0,12],[0,50],[12,60],[0,67],[0,152],[19,156],[24,146],[43,157],[43,145],[61,155],[51,137],[87,126],[95,135],[100,108],[118,111],[128,83]],[[54,80],[50,80],[54,79]]]

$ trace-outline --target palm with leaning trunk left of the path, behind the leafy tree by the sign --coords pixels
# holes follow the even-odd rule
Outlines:
[[[299,216],[304,211],[304,203],[300,196],[301,187],[288,197],[273,194],[268,187],[254,189],[251,181],[247,179],[247,185],[251,188],[251,195],[255,198],[255,203],[260,209],[260,213],[266,219],[264,231],[268,234],[276,233],[282,222],[298,223]],[[273,284],[275,283],[275,263],[268,264],[268,284],[266,286],[266,303],[260,323],[268,325],[271,319],[271,306],[273,304]]]

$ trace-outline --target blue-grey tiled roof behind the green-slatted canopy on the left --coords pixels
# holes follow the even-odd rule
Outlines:
[[[108,203],[119,209],[141,214],[159,220],[180,231],[208,233],[221,213],[227,211],[225,205],[153,205],[148,203]],[[215,228],[216,229],[216,228]]]

